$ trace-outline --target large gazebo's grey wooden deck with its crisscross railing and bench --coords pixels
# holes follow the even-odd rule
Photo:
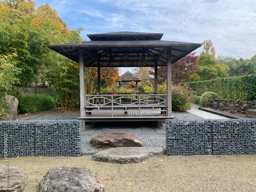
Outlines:
[[[90,95],[85,100],[89,121],[161,121],[167,118],[164,94]]]

